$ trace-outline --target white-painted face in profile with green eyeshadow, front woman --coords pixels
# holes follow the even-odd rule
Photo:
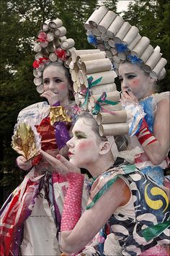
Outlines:
[[[79,168],[87,168],[99,158],[99,140],[91,129],[91,121],[81,118],[73,127],[73,137],[68,140],[68,157]]]

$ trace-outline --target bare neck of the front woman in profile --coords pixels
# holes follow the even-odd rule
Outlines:
[[[99,159],[97,161],[94,161],[94,163],[90,163],[89,166],[86,166],[85,168],[90,172],[90,174],[93,177],[99,176],[104,171],[107,171],[107,169],[113,165],[114,159],[111,155],[100,155]]]

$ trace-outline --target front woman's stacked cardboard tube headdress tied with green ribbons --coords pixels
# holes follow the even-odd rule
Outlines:
[[[126,112],[122,110],[120,93],[115,85],[117,75],[106,54],[99,49],[75,50],[71,53],[71,63],[76,104],[82,110],[94,114],[102,136],[128,134]],[[93,85],[93,82],[96,84]],[[106,101],[98,102],[103,93],[106,93]],[[95,114],[97,104],[101,107],[99,113]]]

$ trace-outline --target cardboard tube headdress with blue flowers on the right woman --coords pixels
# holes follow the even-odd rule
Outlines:
[[[96,9],[84,24],[89,43],[112,61],[115,72],[120,62],[140,64],[151,77],[165,77],[166,59],[162,58],[159,46],[153,48],[146,36],[139,34],[138,27],[131,26],[122,17],[102,6]]]

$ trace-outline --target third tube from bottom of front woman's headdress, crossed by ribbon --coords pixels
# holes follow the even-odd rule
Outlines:
[[[99,99],[100,96],[101,96],[101,94],[91,95],[90,104],[92,107],[95,106],[95,103],[97,102],[97,100]],[[118,101],[120,101],[120,93],[117,90],[115,90],[114,92],[109,92],[109,93],[107,93],[106,100],[118,102]],[[104,104],[107,104],[107,103],[101,103],[101,105],[104,105]]]

